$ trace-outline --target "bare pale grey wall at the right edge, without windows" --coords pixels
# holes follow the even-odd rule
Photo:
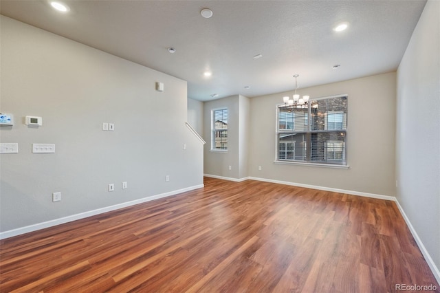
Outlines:
[[[440,1],[428,1],[397,70],[397,200],[440,278]],[[439,280],[440,281],[440,280]]]

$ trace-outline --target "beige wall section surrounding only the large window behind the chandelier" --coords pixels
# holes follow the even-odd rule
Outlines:
[[[283,96],[293,92],[250,99],[249,175],[395,196],[395,86],[395,73],[388,73],[300,89],[300,94],[307,93],[311,98],[348,94],[349,169],[274,164],[276,105],[283,102]]]

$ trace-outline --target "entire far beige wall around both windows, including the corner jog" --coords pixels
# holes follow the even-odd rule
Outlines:
[[[395,196],[395,72],[301,89],[301,93],[306,92],[314,98],[349,95],[349,169],[274,163],[276,105],[283,101],[285,94],[293,94],[288,92],[251,99],[231,96],[205,102],[204,139],[208,143],[204,149],[204,173],[237,180],[256,177]],[[222,107],[230,111],[227,153],[210,151],[211,111]],[[232,166],[232,170],[228,170],[228,166]]]

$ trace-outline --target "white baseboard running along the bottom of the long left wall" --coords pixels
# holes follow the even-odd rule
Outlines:
[[[41,230],[44,228],[50,228],[56,225],[60,225],[60,224],[65,224],[68,223],[70,221],[76,221],[78,219],[84,219],[86,217],[91,217],[94,215],[99,215],[102,213],[107,213],[110,212],[111,210],[118,210],[120,208],[126,208],[127,206],[134,206],[135,204],[142,204],[144,202],[151,202],[154,199],[159,199],[159,198],[163,198],[163,197],[168,197],[171,195],[177,195],[179,193],[184,193],[186,191],[192,191],[194,189],[198,189],[198,188],[203,188],[203,184],[199,184],[199,185],[195,185],[195,186],[190,186],[187,188],[182,188],[179,189],[177,191],[170,191],[168,193],[161,193],[159,195],[153,195],[151,197],[144,197],[141,199],[135,199],[131,202],[123,202],[122,204],[115,204],[113,206],[106,206],[104,208],[98,208],[96,210],[89,210],[87,212],[84,213],[79,213],[76,215],[70,215],[67,217],[62,217],[59,219],[53,219],[50,221],[44,221],[42,223],[38,223],[38,224],[34,224],[34,225],[30,225],[30,226],[25,226],[25,227],[21,227],[21,228],[17,228],[17,229],[13,229],[13,230],[8,230],[5,232],[0,232],[0,239],[5,239],[5,238],[10,238],[10,237],[14,237],[17,235],[22,235],[28,232],[34,232],[36,230]]]

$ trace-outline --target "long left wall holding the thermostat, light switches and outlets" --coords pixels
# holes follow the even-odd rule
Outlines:
[[[1,111],[15,124],[0,135],[19,153],[0,155],[0,231],[203,184],[186,92],[184,80],[1,17]],[[42,116],[43,126],[27,127],[26,115]],[[32,143],[54,143],[56,153],[32,153]]]

